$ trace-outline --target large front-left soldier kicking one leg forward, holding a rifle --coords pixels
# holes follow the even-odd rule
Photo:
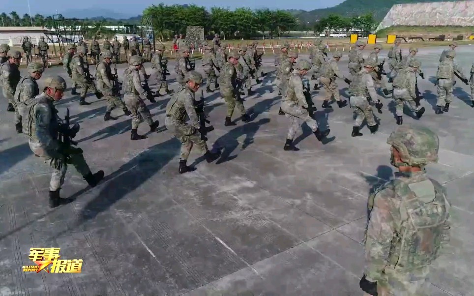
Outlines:
[[[62,119],[54,106],[54,102],[62,98],[66,89],[64,79],[60,76],[48,77],[45,84],[44,91],[32,100],[28,114],[23,118],[23,132],[29,137],[31,151],[54,170],[49,186],[49,205],[58,207],[66,203],[60,198],[59,190],[64,183],[67,164],[72,164],[91,187],[95,187],[104,178],[104,171],[92,174],[82,149],[67,147],[58,139],[59,130],[64,131],[66,128],[65,132],[74,138],[79,126],[71,129],[61,126]]]

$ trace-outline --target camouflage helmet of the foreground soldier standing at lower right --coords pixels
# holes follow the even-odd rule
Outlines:
[[[438,162],[440,140],[426,127],[402,125],[390,134],[387,144],[396,148],[401,160],[408,165]]]

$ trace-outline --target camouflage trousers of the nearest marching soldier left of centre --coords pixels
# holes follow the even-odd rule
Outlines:
[[[166,128],[181,142],[180,159],[187,160],[191,149],[196,146],[203,155],[207,152],[206,141],[201,140],[201,134],[196,128],[185,123],[174,124],[170,117],[165,119]]]

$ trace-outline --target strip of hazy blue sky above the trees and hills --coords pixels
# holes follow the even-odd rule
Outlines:
[[[30,0],[31,14],[40,13],[43,15],[55,14],[56,10],[59,13],[70,9],[89,9],[89,8],[104,8],[110,9],[114,12],[123,13],[126,15],[138,15],[141,14],[143,9],[150,6],[151,4],[158,4],[163,2],[165,4],[183,4],[183,3],[194,3],[199,6],[212,7],[250,7],[264,8],[268,7],[271,9],[304,9],[313,10],[316,8],[326,8],[328,6],[334,6],[343,2],[344,0],[312,0],[312,1],[287,1],[287,0],[167,0],[167,1],[153,1],[153,0]],[[20,17],[28,11],[28,0],[0,0],[0,12],[10,13],[16,11]],[[133,4],[131,4],[133,3]],[[216,5],[219,3],[219,5]]]

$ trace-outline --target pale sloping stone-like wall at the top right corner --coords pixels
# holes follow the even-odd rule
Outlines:
[[[474,0],[396,4],[377,30],[392,26],[473,26]],[[376,30],[376,31],[377,31]]]

